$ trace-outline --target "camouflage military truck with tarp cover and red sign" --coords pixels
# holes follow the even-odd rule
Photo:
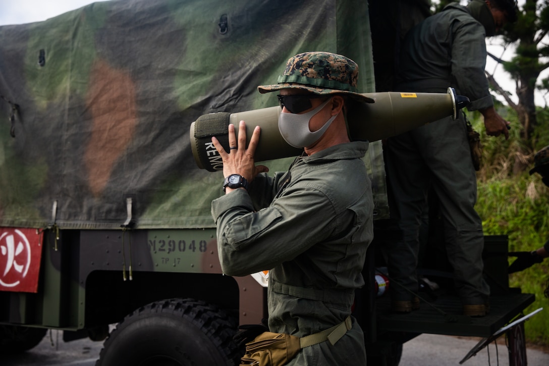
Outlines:
[[[268,317],[268,271],[223,275],[210,215],[223,176],[197,167],[191,123],[276,106],[256,86],[304,51],[355,60],[361,92],[390,90],[380,84],[394,73],[400,19],[421,19],[426,4],[111,0],[0,27],[0,352],[59,329],[66,341],[106,339],[97,365],[238,364],[238,325]],[[365,163],[376,242],[354,314],[371,364],[398,364],[421,332],[489,336],[533,301],[506,286],[497,237],[489,317],[455,315],[451,293],[433,302],[442,313],[390,314],[374,281],[393,235],[382,142]]]

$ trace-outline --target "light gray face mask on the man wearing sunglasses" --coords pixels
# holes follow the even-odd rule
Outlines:
[[[317,142],[338,115],[334,115],[320,130],[315,132],[309,130],[309,121],[313,115],[320,112],[320,110],[331,100],[332,98],[328,99],[326,102],[307,113],[281,113],[278,116],[278,130],[284,140],[293,147],[307,147]]]

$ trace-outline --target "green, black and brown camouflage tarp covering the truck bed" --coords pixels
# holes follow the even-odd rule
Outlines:
[[[0,27],[0,226],[119,228],[127,197],[137,228],[214,226],[223,177],[197,168],[189,126],[275,106],[257,85],[305,51],[354,59],[374,91],[366,1],[113,0]],[[379,143],[370,158],[383,217]]]

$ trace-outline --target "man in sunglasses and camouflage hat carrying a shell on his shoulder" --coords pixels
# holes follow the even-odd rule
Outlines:
[[[288,60],[277,85],[258,87],[280,92],[279,130],[304,148],[286,173],[269,177],[255,165],[259,127],[248,149],[244,121],[238,141],[229,125],[229,152],[212,138],[226,177],[225,196],[212,202],[223,273],[271,270],[268,328],[301,338],[289,365],[366,364],[362,330],[350,314],[373,236],[372,190],[361,160],[368,142],[350,142],[344,115],[349,98],[373,100],[357,93],[357,78],[351,59],[306,52]],[[328,339],[323,331],[332,327]],[[316,340],[303,338],[310,335]]]

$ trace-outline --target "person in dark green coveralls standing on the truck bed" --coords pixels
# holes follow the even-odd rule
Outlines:
[[[514,0],[447,5],[406,35],[396,90],[444,92],[454,87],[470,99],[469,110],[483,114],[486,134],[508,138],[508,122],[495,112],[484,74],[485,37],[516,18]],[[391,137],[385,145],[388,182],[403,235],[387,248],[389,274],[396,282],[391,289],[395,312],[419,308],[418,298],[411,292],[418,291],[418,233],[429,184],[440,201],[446,252],[463,314],[481,317],[489,310],[490,290],[483,279],[481,258],[482,222],[474,209],[476,175],[466,122],[463,114],[459,115],[455,121],[446,118]]]

